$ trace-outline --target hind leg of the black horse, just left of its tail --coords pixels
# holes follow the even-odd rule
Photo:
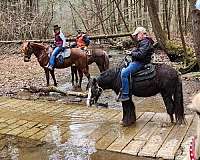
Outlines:
[[[174,117],[173,117],[173,114],[174,114],[174,101],[172,99],[172,94],[167,93],[167,92],[165,92],[165,93],[162,92],[161,95],[162,95],[163,101],[165,103],[165,106],[166,106],[166,109],[167,109],[167,113],[170,116],[171,123],[174,123]]]

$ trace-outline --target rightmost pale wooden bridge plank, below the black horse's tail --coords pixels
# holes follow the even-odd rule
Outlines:
[[[174,159],[180,144],[193,120],[193,115],[186,115],[187,125],[176,125],[170,132],[162,147],[159,149],[156,157],[164,159]]]

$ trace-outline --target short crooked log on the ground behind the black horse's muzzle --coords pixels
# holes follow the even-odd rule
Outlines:
[[[56,92],[56,93],[60,93],[62,95],[65,96],[77,96],[77,97],[87,97],[87,93],[83,93],[83,92],[75,92],[75,91],[62,91],[59,88],[55,87],[55,86],[49,86],[49,87],[36,87],[36,86],[26,86],[26,87],[22,87],[22,90],[26,90],[29,91],[31,93],[49,93],[49,92]]]

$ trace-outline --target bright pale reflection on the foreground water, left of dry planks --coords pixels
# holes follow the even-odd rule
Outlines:
[[[66,127],[63,132],[67,132],[69,138],[64,143],[61,143],[61,126],[51,126],[45,138],[52,145],[48,148],[49,160],[89,160],[90,155],[96,152],[95,142],[88,138],[88,135],[96,128],[96,125],[91,126],[73,124]]]

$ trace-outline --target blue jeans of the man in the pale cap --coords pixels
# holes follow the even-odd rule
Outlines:
[[[129,63],[128,67],[123,68],[121,72],[121,80],[122,80],[122,94],[128,95],[129,94],[129,76],[133,73],[136,73],[144,64],[134,61]]]

